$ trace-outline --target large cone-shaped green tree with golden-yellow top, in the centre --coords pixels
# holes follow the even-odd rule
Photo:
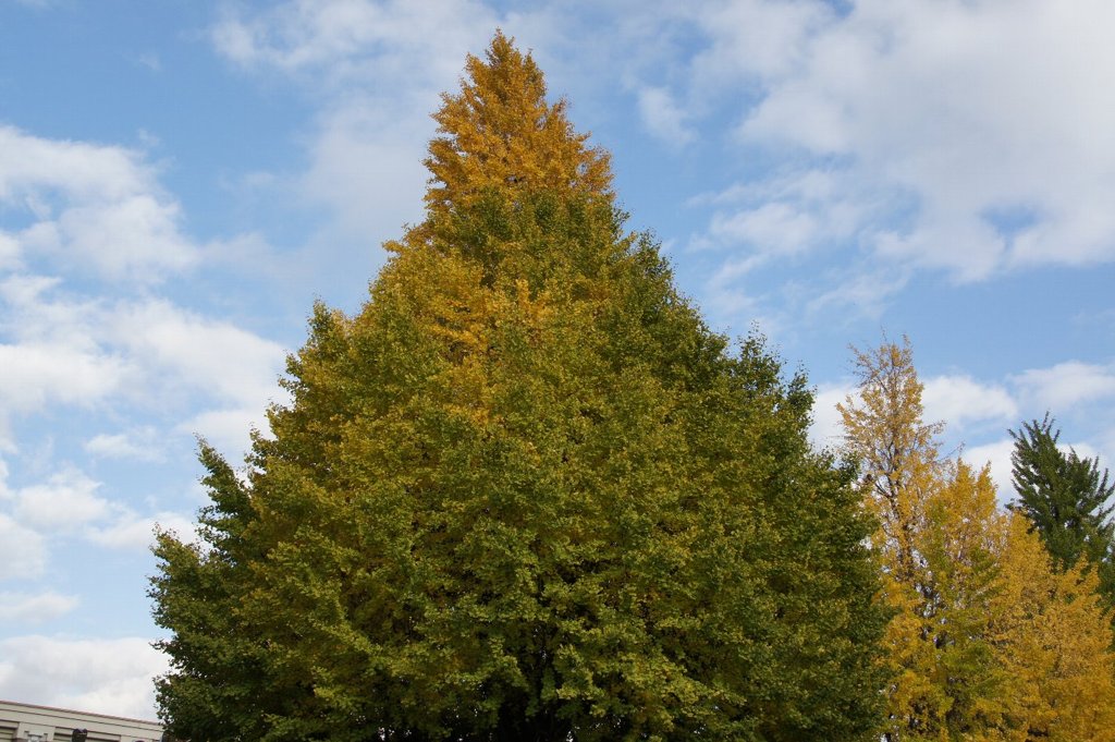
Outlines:
[[[426,220],[159,538],[168,729],[873,739],[872,523],[805,379],[706,328],[504,36],[435,119]]]

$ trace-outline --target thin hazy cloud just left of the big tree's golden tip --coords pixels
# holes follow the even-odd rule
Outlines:
[[[298,187],[340,218],[334,229],[375,243],[419,218],[428,113],[454,87],[462,52],[479,52],[498,25],[472,1],[295,0],[230,12],[211,39],[235,66],[316,100]]]

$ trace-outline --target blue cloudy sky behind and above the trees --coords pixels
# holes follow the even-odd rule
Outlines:
[[[850,346],[905,335],[1004,502],[1046,412],[1115,461],[1108,0],[0,0],[0,697],[154,717],[197,436],[239,464],[312,302],[359,309],[496,28],[818,446]]]

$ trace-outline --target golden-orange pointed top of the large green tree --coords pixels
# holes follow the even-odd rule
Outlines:
[[[542,70],[496,31],[481,59],[469,55],[458,94],[442,95],[438,136],[425,160],[430,215],[469,203],[489,187],[571,190],[611,196],[608,153],[588,146],[565,116],[564,98],[545,99]]]

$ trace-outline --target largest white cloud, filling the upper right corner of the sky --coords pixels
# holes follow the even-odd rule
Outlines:
[[[792,231],[818,225],[802,244],[851,240],[960,280],[1115,260],[1115,88],[1096,73],[1115,67],[1099,30],[1115,6],[740,0],[686,20],[704,47],[673,50],[688,77],[663,95],[698,116],[734,106],[741,158],[786,155],[760,179],[837,184],[777,200]]]

